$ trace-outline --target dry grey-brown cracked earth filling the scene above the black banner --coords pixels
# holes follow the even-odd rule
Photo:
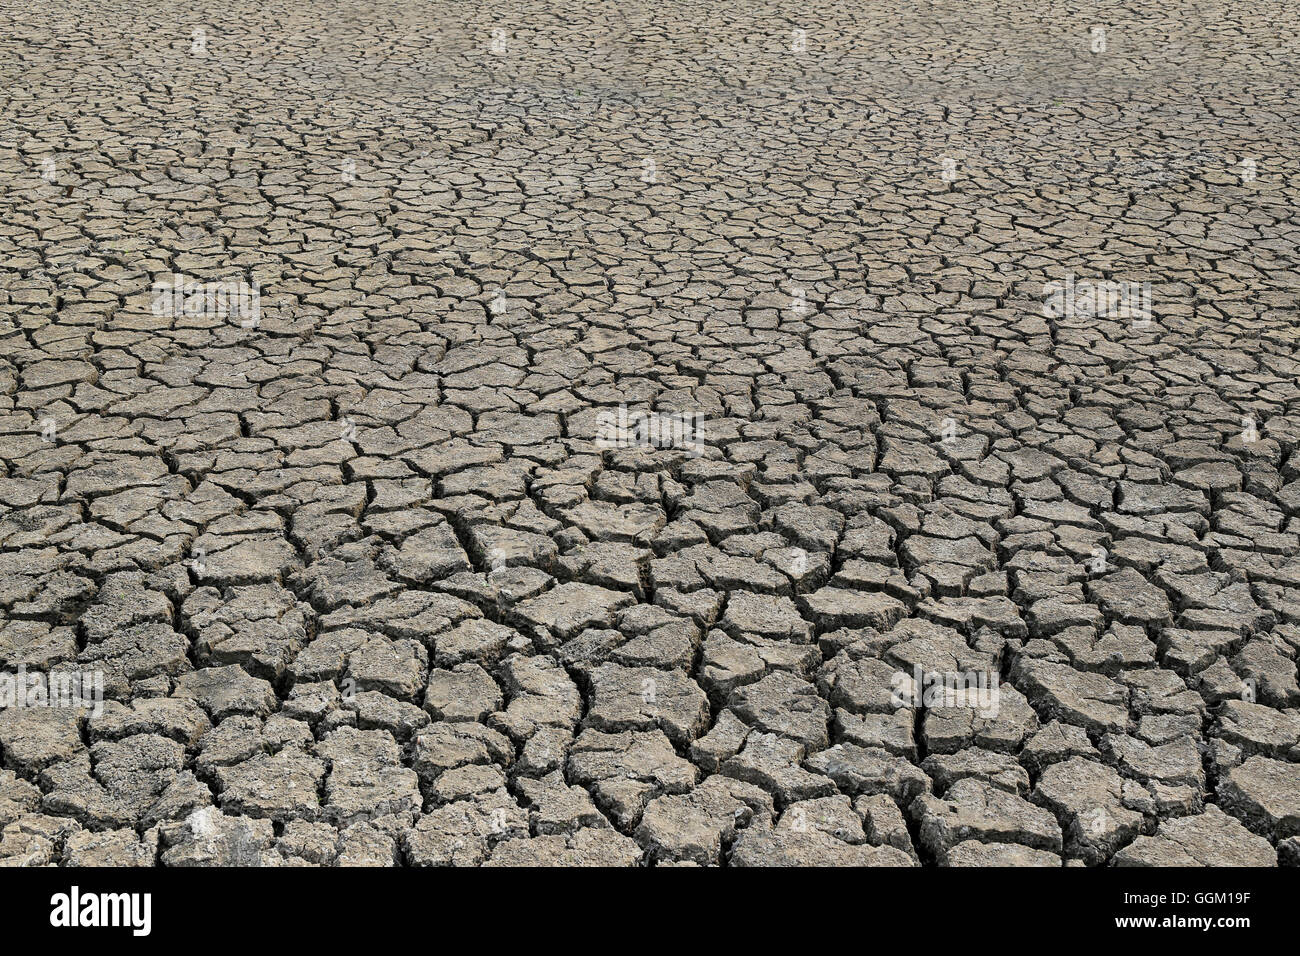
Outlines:
[[[6,3],[0,861],[1296,864],[1295,51]]]

